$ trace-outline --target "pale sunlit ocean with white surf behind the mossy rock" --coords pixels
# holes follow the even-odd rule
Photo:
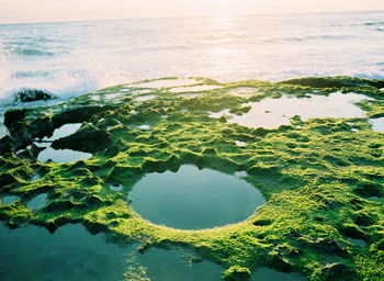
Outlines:
[[[384,78],[384,11],[0,25],[0,106],[160,77]]]

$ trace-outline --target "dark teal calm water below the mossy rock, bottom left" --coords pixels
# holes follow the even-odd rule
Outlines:
[[[54,234],[37,226],[11,231],[0,225],[2,281],[218,281],[223,268],[206,260],[193,263],[192,250],[120,247],[91,235],[80,224]]]

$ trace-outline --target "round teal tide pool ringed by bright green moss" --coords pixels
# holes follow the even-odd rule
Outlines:
[[[266,202],[244,179],[211,169],[182,166],[153,172],[129,192],[132,209],[144,220],[179,229],[203,229],[248,218]]]

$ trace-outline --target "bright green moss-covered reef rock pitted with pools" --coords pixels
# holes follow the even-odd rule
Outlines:
[[[56,105],[9,110],[9,135],[0,140],[0,192],[19,200],[0,205],[0,220],[11,228],[34,224],[50,232],[82,223],[116,243],[140,241],[143,251],[189,247],[222,265],[226,280],[248,280],[260,267],[300,272],[312,281],[384,280],[384,135],[370,123],[384,116],[383,80],[221,83],[191,78],[193,87],[183,85],[182,91],[167,83],[146,86],[172,80],[178,79],[121,85]],[[199,88],[206,86],[215,87]],[[267,98],[334,92],[366,97],[357,103],[365,116],[296,115],[289,125],[269,130],[230,123],[226,114],[212,116],[224,110],[246,114],[249,102]],[[38,161],[43,138],[68,123],[81,127],[53,140],[52,147],[92,157]],[[229,175],[245,171],[242,178],[267,202],[244,222],[200,231],[154,225],[132,211],[127,196],[135,182],[147,172],[185,164]],[[124,188],[113,191],[110,184]],[[46,204],[29,209],[26,202],[42,193]]]

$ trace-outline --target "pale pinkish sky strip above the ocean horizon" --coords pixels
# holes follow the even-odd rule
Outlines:
[[[384,0],[0,0],[0,23],[384,10]]]

